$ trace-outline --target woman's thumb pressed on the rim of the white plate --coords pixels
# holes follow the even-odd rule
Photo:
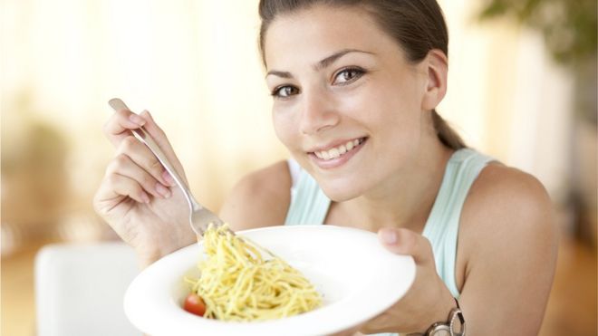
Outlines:
[[[382,227],[378,231],[382,245],[395,254],[410,254],[416,264],[434,264],[428,238],[406,228]]]

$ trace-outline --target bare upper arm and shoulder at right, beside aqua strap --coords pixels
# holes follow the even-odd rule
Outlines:
[[[470,335],[535,335],[555,274],[553,207],[535,178],[490,165],[461,215],[466,259],[459,302]]]

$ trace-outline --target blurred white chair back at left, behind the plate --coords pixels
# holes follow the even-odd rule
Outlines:
[[[120,242],[44,246],[35,257],[37,335],[140,335],[122,308],[139,272]]]

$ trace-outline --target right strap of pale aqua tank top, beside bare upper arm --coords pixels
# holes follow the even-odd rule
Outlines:
[[[494,160],[474,149],[456,151],[449,159],[439,194],[424,226],[423,235],[432,245],[437,272],[454,297],[460,294],[455,264],[461,209],[479,173]]]

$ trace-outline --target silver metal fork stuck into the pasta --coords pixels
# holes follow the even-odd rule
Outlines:
[[[125,105],[124,101],[121,101],[118,98],[111,99],[108,101],[108,104],[112,109],[117,111],[130,110],[127,105]],[[143,144],[145,144],[156,156],[156,158],[158,158],[159,162],[162,164],[162,166],[164,166],[164,168],[166,168],[170,176],[177,183],[177,186],[183,192],[183,195],[187,199],[189,206],[189,224],[196,235],[198,235],[198,238],[204,235],[204,232],[207,230],[207,226],[210,224],[213,224],[214,226],[224,225],[224,221],[220,219],[220,217],[210,211],[207,207],[200,205],[195,197],[193,197],[191,190],[189,190],[187,184],[185,183],[185,180],[178,175],[177,170],[175,170],[162,150],[159,149],[158,143],[156,143],[156,141],[149,136],[148,131],[142,126],[139,129],[130,131],[133,133],[135,138],[139,139]],[[232,230],[229,231],[232,233]]]

